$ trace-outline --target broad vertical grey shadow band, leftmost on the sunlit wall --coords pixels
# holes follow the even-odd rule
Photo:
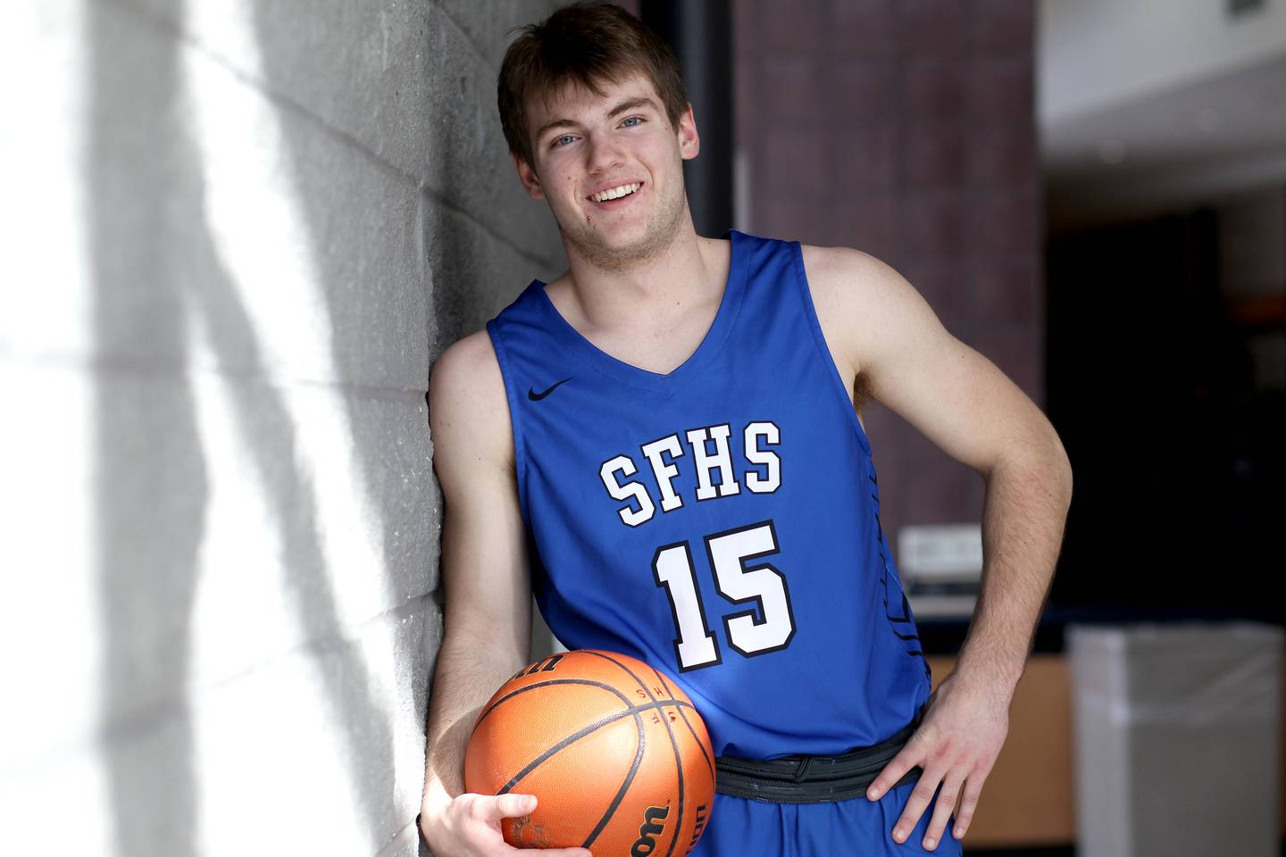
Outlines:
[[[86,23],[91,116],[82,159],[93,164],[98,153],[131,153],[129,170],[89,170],[96,348],[108,357],[134,353],[145,334],[141,340],[154,352],[181,355],[185,312],[176,294],[159,288],[174,274],[166,262],[186,256],[162,249],[175,239],[166,212],[199,211],[199,188],[171,184],[172,168],[192,158],[183,128],[174,126],[177,59],[161,53],[122,62],[113,50],[118,15],[100,4],[89,5]],[[126,95],[131,91],[136,96]],[[148,144],[154,150],[147,155],[132,152]],[[197,176],[189,167],[177,177],[192,182]],[[153,288],[135,288],[140,280]],[[122,297],[136,306],[122,306]],[[94,502],[105,633],[100,740],[116,853],[162,849],[184,857],[197,853],[197,775],[184,691],[207,473],[183,366],[159,378],[139,371],[149,358],[156,356],[139,353],[138,365],[113,360],[95,385]]]

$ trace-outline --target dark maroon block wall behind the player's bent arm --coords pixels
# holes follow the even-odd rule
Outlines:
[[[1028,0],[734,0],[733,53],[742,227],[887,262],[1044,407],[1034,15]],[[885,407],[863,421],[890,540],[981,520],[974,470]]]

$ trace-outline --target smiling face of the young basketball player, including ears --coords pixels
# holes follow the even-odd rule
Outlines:
[[[696,157],[700,139],[692,105],[673,127],[647,75],[602,89],[599,98],[568,84],[548,108],[532,99],[536,163],[514,157],[514,166],[527,194],[549,202],[568,253],[621,270],[664,251],[684,224],[692,229],[683,162]],[[621,186],[634,190],[595,198]]]

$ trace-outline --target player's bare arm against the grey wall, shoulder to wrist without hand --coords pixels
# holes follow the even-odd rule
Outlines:
[[[430,378],[433,470],[442,486],[445,632],[430,694],[422,813],[464,791],[478,711],[527,663],[531,588],[500,369],[482,330],[448,348]]]

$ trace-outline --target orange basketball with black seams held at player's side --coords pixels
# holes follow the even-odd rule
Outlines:
[[[579,649],[523,667],[482,708],[464,788],[536,795],[504,818],[516,848],[589,848],[594,857],[683,857],[714,806],[715,758],[673,678],[616,651]]]

